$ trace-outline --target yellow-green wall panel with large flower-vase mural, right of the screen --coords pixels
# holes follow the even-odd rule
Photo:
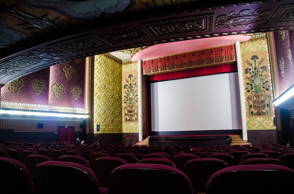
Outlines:
[[[247,130],[275,129],[273,87],[266,36],[240,44]]]

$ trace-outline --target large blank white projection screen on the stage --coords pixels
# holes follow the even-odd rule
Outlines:
[[[153,82],[150,95],[149,131],[156,135],[242,129],[237,72]]]

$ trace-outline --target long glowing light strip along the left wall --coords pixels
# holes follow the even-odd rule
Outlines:
[[[40,117],[89,118],[89,115],[85,115],[85,114],[44,113],[44,112],[1,110],[1,109],[0,109],[0,114],[40,116]]]

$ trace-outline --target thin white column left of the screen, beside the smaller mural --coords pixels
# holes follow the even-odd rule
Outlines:
[[[138,122],[139,122],[139,141],[143,141],[143,121],[142,121],[142,70],[141,60],[138,59]]]

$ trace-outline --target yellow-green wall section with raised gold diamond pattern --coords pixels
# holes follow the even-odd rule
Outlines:
[[[94,127],[100,125],[98,133],[122,133],[121,60],[96,55],[94,69]]]

